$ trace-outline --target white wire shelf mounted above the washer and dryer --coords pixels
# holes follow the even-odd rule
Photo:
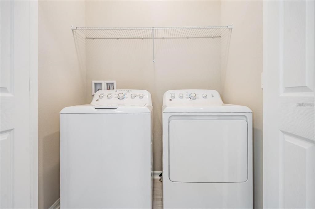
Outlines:
[[[224,26],[194,27],[76,27],[85,39],[152,39],[154,63],[154,39],[221,38],[232,31],[233,24]]]

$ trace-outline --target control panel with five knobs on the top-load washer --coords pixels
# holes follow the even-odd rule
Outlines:
[[[97,91],[91,105],[152,106],[151,94],[146,90],[113,89]]]

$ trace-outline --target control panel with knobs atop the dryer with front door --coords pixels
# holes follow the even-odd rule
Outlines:
[[[219,92],[206,89],[169,90],[163,97],[163,106],[221,106]]]

